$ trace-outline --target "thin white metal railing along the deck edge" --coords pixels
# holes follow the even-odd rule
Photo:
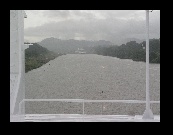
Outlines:
[[[82,103],[82,112],[85,114],[85,103],[143,103],[146,104],[145,100],[86,100],[86,99],[23,99],[19,103],[19,113],[21,112],[21,105],[25,101],[36,102],[36,101],[60,101],[60,102],[80,102]],[[150,101],[150,103],[160,104],[160,101]]]

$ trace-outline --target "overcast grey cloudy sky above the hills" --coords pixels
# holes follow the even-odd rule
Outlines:
[[[145,10],[25,10],[25,41],[45,38],[108,40],[145,39]],[[150,13],[150,38],[160,38],[160,10]]]

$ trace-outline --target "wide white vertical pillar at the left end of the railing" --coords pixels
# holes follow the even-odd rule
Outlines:
[[[25,118],[25,105],[19,104],[25,98],[24,75],[24,11],[10,10],[10,115],[19,115],[20,121]]]

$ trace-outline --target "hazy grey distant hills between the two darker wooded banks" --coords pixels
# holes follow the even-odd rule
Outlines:
[[[39,42],[42,47],[47,48],[50,51],[57,53],[75,53],[78,48],[83,48],[86,53],[93,53],[93,47],[98,45],[113,45],[110,41],[99,40],[99,41],[87,41],[87,40],[61,40],[57,38],[46,38]]]

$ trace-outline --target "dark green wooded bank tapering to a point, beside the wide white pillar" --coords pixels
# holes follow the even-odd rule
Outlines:
[[[25,72],[41,67],[62,54],[54,53],[37,43],[25,50]]]

